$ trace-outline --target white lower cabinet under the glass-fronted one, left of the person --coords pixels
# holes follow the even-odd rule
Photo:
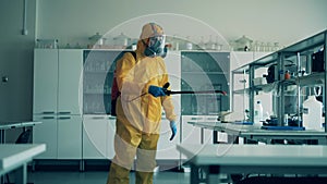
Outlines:
[[[112,159],[116,118],[83,115],[83,159]]]

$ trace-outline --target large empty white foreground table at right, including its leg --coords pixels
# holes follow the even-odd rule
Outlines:
[[[177,148],[190,159],[191,184],[217,184],[220,173],[327,173],[325,145],[182,144]],[[204,179],[199,177],[199,171],[204,172]]]

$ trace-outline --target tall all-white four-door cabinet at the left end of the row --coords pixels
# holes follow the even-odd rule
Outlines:
[[[33,131],[34,143],[47,144],[38,159],[81,159],[80,111],[82,50],[35,49],[33,114],[43,124]]]

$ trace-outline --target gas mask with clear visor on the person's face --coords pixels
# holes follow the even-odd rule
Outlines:
[[[166,36],[165,35],[160,35],[160,36],[154,36],[150,37],[148,40],[148,44],[146,44],[144,40],[143,44],[146,46],[145,50],[144,50],[144,54],[146,57],[162,57],[165,58],[167,54],[167,48],[165,47],[165,39]]]

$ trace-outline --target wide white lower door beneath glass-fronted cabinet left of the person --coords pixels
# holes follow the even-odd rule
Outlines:
[[[108,149],[107,137],[108,121],[106,115],[84,115],[83,159],[106,159]]]

